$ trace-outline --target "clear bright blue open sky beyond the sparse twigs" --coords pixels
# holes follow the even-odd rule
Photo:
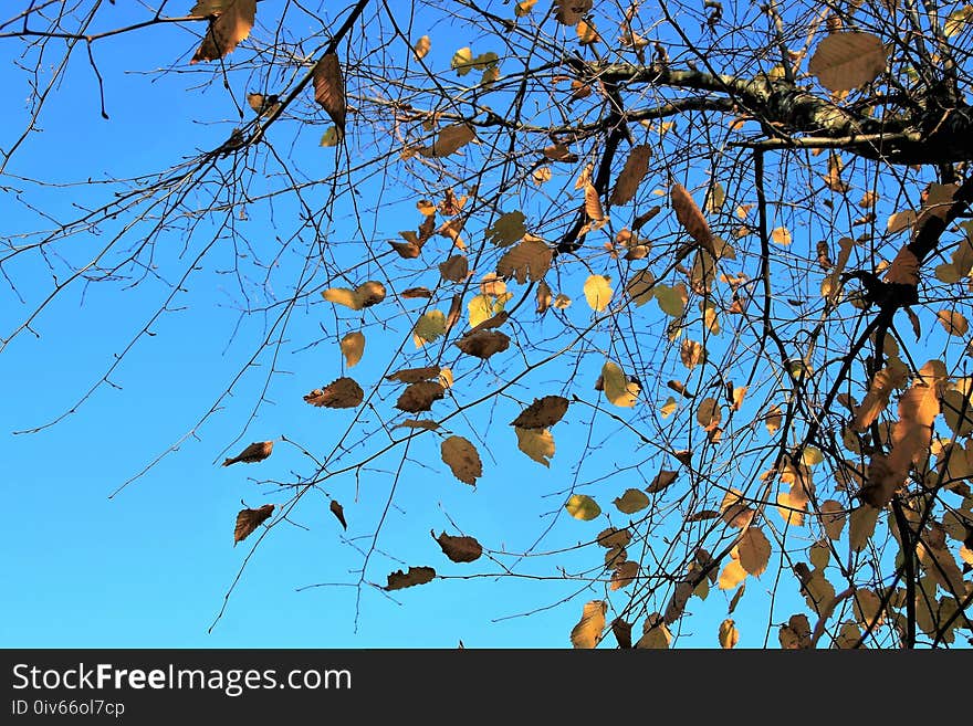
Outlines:
[[[125,11],[119,8],[117,12]],[[9,98],[0,138],[3,148],[9,148],[27,117],[24,75],[10,62],[17,45],[12,41],[0,43],[0,78]],[[177,70],[188,67],[193,42],[184,31],[171,27],[148,30],[100,42],[94,49],[105,77],[111,119],[100,118],[95,77],[84,54],[79,53],[49,99],[39,130],[30,135],[8,168],[11,176],[0,179],[0,183],[25,189],[30,199],[40,200],[44,212],[56,219],[76,213],[73,204],[96,203],[106,188],[79,185],[66,192],[43,190],[15,177],[67,183],[165,169],[185,156],[219,145],[236,118],[229,96],[218,83],[205,90],[188,90],[202,78],[201,66],[195,67],[193,76],[145,73],[165,67],[180,55]],[[446,69],[452,50],[439,45],[430,59]],[[136,72],[125,73],[123,69]],[[205,71],[211,74],[212,67]],[[243,103],[250,88],[245,81],[238,81],[231,92]],[[334,149],[317,146],[322,128],[299,137],[293,148],[282,148],[313,159],[326,173],[336,155]],[[376,187],[360,191],[363,198],[379,192]],[[325,190],[314,193],[323,203]],[[0,197],[0,212],[4,238],[45,224],[12,192]],[[278,215],[293,213],[295,210],[287,206],[275,210]],[[415,212],[386,219],[383,239],[415,223]],[[268,244],[273,241],[275,229],[265,219],[251,217],[241,227],[252,240]],[[90,257],[112,229],[108,224],[104,230],[77,235],[57,249],[70,260]],[[202,225],[198,232],[207,231]],[[236,548],[232,543],[241,501],[255,507],[286,498],[269,485],[255,484],[252,477],[286,481],[292,472],[306,469],[301,453],[282,444],[270,460],[257,466],[217,465],[223,448],[240,435],[241,424],[260,393],[260,370],[243,379],[233,398],[226,401],[226,410],[209,419],[197,432],[198,438],[188,439],[178,452],[115,498],[108,495],[186,434],[263,334],[255,318],[234,333],[240,293],[232,275],[226,274],[233,260],[231,250],[217,249],[193,275],[188,292],[177,296],[174,306],[181,309],[163,316],[151,326],[156,335],[144,337],[126,354],[112,376],[118,388],[101,387],[75,414],[53,428],[34,434],[11,433],[56,418],[98,380],[113,356],[154,313],[159,295],[166,293],[154,275],[158,272],[171,276],[184,243],[178,232],[165,235],[158,250],[158,269],[149,271],[137,287],[126,288],[125,283],[73,285],[38,318],[33,326],[36,336],[21,334],[0,355],[0,380],[4,382],[0,406],[4,471],[0,487],[6,508],[0,547],[7,553],[8,583],[0,599],[0,644],[451,648],[462,640],[471,648],[568,645],[568,633],[582,604],[600,597],[597,590],[575,595],[579,589],[576,583],[513,578],[436,581],[391,593],[394,598],[365,587],[360,590],[357,632],[359,590],[355,587],[295,591],[320,582],[357,581],[362,566],[358,548],[367,547],[367,536],[389,497],[396,457],[381,460],[366,471],[358,483],[357,504],[353,478],[328,484],[329,492],[345,504],[349,541],[342,541],[343,533],[327,511],[327,501],[306,497],[295,512],[294,523],[308,529],[286,524],[275,528],[252,558],[224,617],[211,634],[207,633],[249,551],[249,541]],[[282,270],[275,274],[282,277],[293,272],[294,265],[293,259],[284,259]],[[52,278],[36,255],[14,261],[7,272],[24,302],[0,284],[4,336],[43,299]],[[583,319],[588,312],[573,314]],[[342,318],[339,333],[354,329],[351,319]],[[280,364],[286,373],[274,378],[269,403],[261,408],[234,451],[250,441],[281,434],[314,451],[333,444],[338,424],[346,424],[351,414],[312,409],[301,396],[342,375],[337,345],[331,339],[301,355],[296,351],[322,337],[318,324],[329,325],[334,337],[335,323],[331,308],[320,304],[295,313]],[[378,379],[386,361],[376,354],[384,340],[378,333],[369,337],[365,360],[352,375],[363,381]],[[500,380],[503,373],[502,369],[485,369],[478,376],[486,376],[489,385],[489,376]],[[598,366],[588,366],[579,373],[594,382]],[[552,372],[532,379],[536,386],[533,394],[561,392],[556,377]],[[489,537],[490,546],[504,545],[514,551],[530,546],[550,520],[542,518],[544,513],[561,507],[563,497],[552,493],[569,486],[577,460],[573,453],[580,450],[589,434],[590,410],[573,409],[555,429],[558,450],[550,470],[516,451],[513,432],[505,427],[516,410],[508,401],[492,415],[492,456],[481,449],[485,473],[475,491],[449,474],[439,461],[432,436],[420,439],[397,484],[367,580],[383,583],[386,574],[404,565],[431,565],[452,575],[495,571],[484,561],[461,566],[444,559],[429,530],[454,533],[446,514],[458,516],[470,534],[486,533],[482,538],[488,544]],[[467,423],[470,425],[458,432],[473,438],[475,421]],[[501,435],[508,439],[503,441]],[[609,457],[616,455],[610,449],[606,451]],[[592,472],[585,475],[593,476]],[[616,488],[617,482],[610,494],[600,497],[606,513],[618,493]],[[613,524],[624,523],[624,516],[613,514]],[[590,539],[607,525],[606,516],[579,523],[562,515],[542,548]],[[584,557],[563,556],[556,561],[571,569],[592,566],[592,558],[590,550],[586,550]],[[553,561],[525,562],[517,571],[550,572]],[[773,587],[773,572],[762,580],[751,578],[747,587],[747,597],[735,617],[741,625],[741,646],[758,646],[768,628],[766,615],[761,613],[766,592]],[[692,634],[681,644],[716,645],[716,627],[726,617],[730,595],[714,587],[705,603],[693,600],[698,617],[691,619]],[[575,597],[567,604],[546,609],[569,596]],[[794,607],[788,608],[788,602]],[[775,622],[804,610],[797,593],[782,593],[777,604]],[[544,610],[532,617],[495,621],[537,609]],[[755,618],[749,629],[744,627],[747,612]],[[776,643],[776,629],[770,641]],[[614,644],[610,636],[609,643]]]

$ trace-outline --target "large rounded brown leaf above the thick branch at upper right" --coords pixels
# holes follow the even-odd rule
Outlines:
[[[825,38],[807,70],[828,91],[851,91],[875,81],[886,70],[888,53],[871,33],[837,32]]]

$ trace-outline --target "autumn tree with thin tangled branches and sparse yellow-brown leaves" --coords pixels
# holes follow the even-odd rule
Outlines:
[[[724,648],[749,625],[783,648],[971,638],[973,6],[156,6],[32,2],[0,28],[29,88],[3,183],[35,220],[0,253],[24,295],[2,349],[75,287],[158,296],[51,424],[220,275],[229,339],[255,345],[180,442],[243,388],[218,463],[302,462],[251,483],[273,502],[239,513],[234,544],[326,502],[359,597],[566,581],[578,648],[678,645],[711,588]],[[138,38],[169,64],[111,50]],[[69,213],[74,187],[19,165],[52,99],[84,74],[76,123],[107,118],[123,70],[219,139],[93,180],[100,201]],[[53,282],[21,292],[39,262]],[[344,370],[281,398],[292,353]],[[260,433],[271,402],[334,435]],[[391,566],[407,483],[498,486],[513,456],[555,511],[532,544],[503,545],[502,511],[467,532],[470,497]],[[741,600],[762,620],[734,622]]]

